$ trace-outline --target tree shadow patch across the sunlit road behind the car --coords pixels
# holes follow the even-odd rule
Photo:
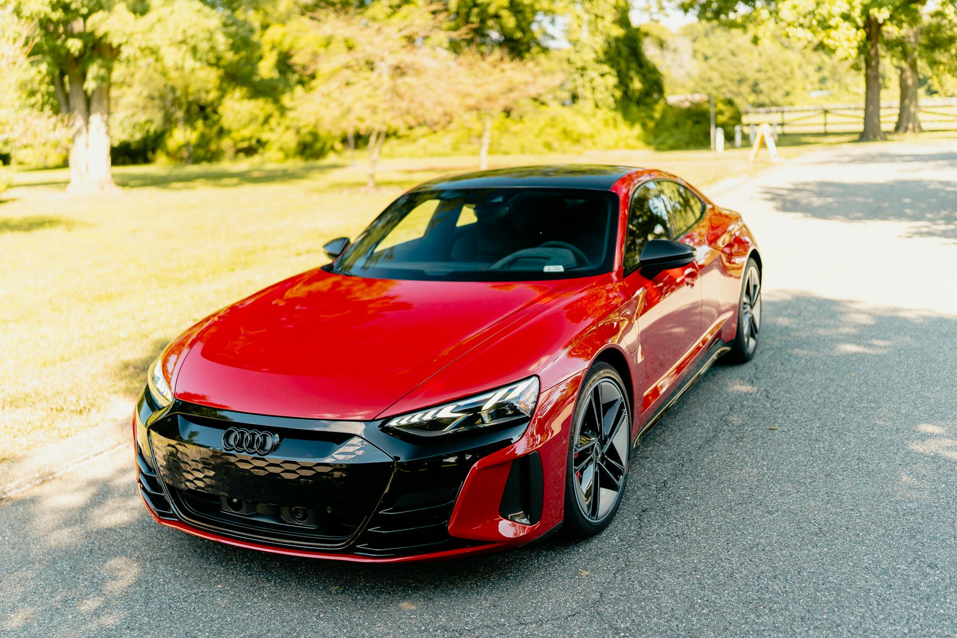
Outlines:
[[[844,222],[904,222],[909,225],[905,236],[957,241],[954,181],[798,182],[763,193],[781,212]]]

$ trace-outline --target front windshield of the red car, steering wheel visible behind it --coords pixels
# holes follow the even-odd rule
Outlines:
[[[507,281],[612,270],[617,197],[570,188],[414,190],[337,259],[344,275]]]

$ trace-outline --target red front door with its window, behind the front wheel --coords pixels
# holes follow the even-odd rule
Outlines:
[[[635,188],[625,234],[625,286],[638,309],[639,343],[634,356],[643,419],[674,389],[701,337],[697,262],[655,274],[638,268],[641,249],[649,240],[674,236],[670,219],[674,203],[667,184],[652,181]]]

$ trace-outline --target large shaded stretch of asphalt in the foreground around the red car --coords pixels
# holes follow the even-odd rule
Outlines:
[[[807,583],[847,598],[845,565],[867,570],[867,553],[892,550],[907,561],[952,533],[957,421],[941,345],[954,342],[957,318],[768,295],[756,358],[713,368],[651,431],[603,534],[457,561],[308,561],[196,539],[147,516],[132,451],[119,454],[0,504],[0,627],[481,633],[520,618],[571,631],[602,614],[639,627],[625,609],[661,630],[697,614],[702,631],[730,607],[734,627],[758,627],[760,609],[761,632],[796,630],[815,616],[790,615]]]

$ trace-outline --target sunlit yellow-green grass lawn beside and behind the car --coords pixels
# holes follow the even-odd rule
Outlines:
[[[785,158],[802,149],[783,148]],[[746,150],[508,156],[493,165],[656,166],[705,191],[757,173]],[[471,170],[471,157],[365,167],[118,167],[122,193],[71,197],[63,169],[19,172],[0,203],[0,460],[131,411],[147,365],[198,319],[322,265],[322,245],[355,236],[403,190]],[[322,362],[317,362],[322,365]]]

